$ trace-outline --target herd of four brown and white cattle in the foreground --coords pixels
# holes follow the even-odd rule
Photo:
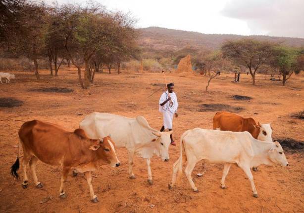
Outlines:
[[[133,158],[139,154],[145,158],[148,166],[148,182],[152,184],[150,162],[155,154],[162,161],[169,161],[170,132],[159,132],[150,127],[143,116],[127,118],[120,115],[94,112],[86,116],[79,129],[69,132],[63,127],[49,122],[32,120],[25,122],[19,130],[19,149],[16,162],[11,167],[11,174],[19,178],[19,150],[23,148],[23,188],[28,186],[26,167],[29,165],[34,184],[43,185],[36,175],[38,160],[62,166],[59,197],[66,198],[64,181],[69,171],[85,174],[90,188],[91,200],[98,202],[92,186],[91,172],[100,165],[109,164],[118,167],[120,162],[115,147],[125,147],[129,156],[129,178],[134,179]],[[270,124],[256,123],[253,118],[243,118],[229,112],[217,112],[213,118],[213,130],[195,128],[181,136],[180,157],[173,165],[172,181],[169,189],[176,183],[177,174],[182,173],[182,165],[192,189],[195,186],[191,174],[200,160],[224,164],[221,188],[226,188],[225,178],[231,164],[237,164],[249,178],[253,196],[257,191],[250,168],[256,170],[261,164],[288,166],[285,154],[279,142],[272,142]]]

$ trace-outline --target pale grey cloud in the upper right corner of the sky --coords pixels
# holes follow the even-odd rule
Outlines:
[[[246,21],[251,34],[304,38],[304,0],[229,0],[222,14]]]

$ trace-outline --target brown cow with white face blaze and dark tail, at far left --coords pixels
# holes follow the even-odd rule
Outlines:
[[[29,164],[36,187],[42,184],[36,175],[36,163],[38,160],[53,165],[62,166],[61,185],[59,197],[66,198],[63,182],[67,179],[69,170],[76,169],[85,173],[92,202],[98,202],[92,186],[91,171],[95,171],[97,165],[109,164],[112,167],[120,165],[114,148],[114,142],[110,137],[103,139],[89,139],[82,129],[68,132],[62,127],[32,120],[25,122],[19,130],[20,142],[23,147],[23,188],[27,188],[28,178],[26,166]],[[18,151],[19,152],[19,151]],[[19,153],[16,162],[11,167],[11,174],[18,178]]]

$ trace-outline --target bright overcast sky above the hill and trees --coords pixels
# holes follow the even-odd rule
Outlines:
[[[47,0],[51,2],[52,0]],[[304,38],[304,0],[96,0],[131,12],[137,28]],[[58,0],[59,3],[84,2]]]

